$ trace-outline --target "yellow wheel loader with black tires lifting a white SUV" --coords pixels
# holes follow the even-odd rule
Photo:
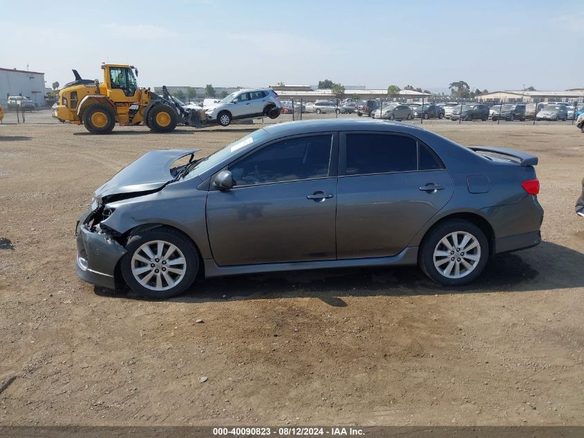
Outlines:
[[[59,91],[55,117],[75,125],[83,124],[91,134],[109,134],[115,123],[139,125],[152,131],[170,132],[176,125],[204,127],[205,111],[185,109],[162,87],[162,96],[139,88],[138,69],[124,64],[102,64],[104,82],[82,79],[73,70],[75,80]]]

